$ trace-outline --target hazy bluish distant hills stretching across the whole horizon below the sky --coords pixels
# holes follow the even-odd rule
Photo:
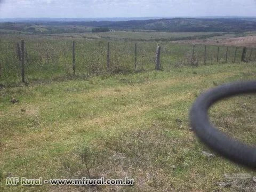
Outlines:
[[[256,30],[256,18],[169,18],[129,21],[52,21],[38,19],[26,22],[0,23],[2,30],[22,31],[22,33],[83,33],[93,28],[114,30],[155,30],[172,32],[245,32]]]

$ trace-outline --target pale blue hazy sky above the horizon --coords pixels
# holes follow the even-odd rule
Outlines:
[[[0,0],[0,18],[256,17],[256,0]]]

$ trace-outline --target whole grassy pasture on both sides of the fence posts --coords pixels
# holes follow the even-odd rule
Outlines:
[[[216,46],[209,46],[204,65],[204,46],[196,46],[199,64],[191,66],[185,62],[191,45],[159,42],[163,70],[155,71],[157,42],[138,43],[135,70],[134,42],[110,41],[113,68],[107,71],[105,39],[2,37],[0,191],[255,190],[253,171],[214,154],[189,125],[189,109],[199,94],[223,83],[255,79],[255,61],[232,62],[234,47],[227,63],[223,47],[217,63]],[[26,84],[20,83],[15,52],[21,38],[28,54]],[[71,39],[76,41],[75,76]],[[212,122],[231,137],[255,143],[255,99],[255,95],[244,95],[217,103],[209,113]],[[236,173],[250,177],[225,177]],[[81,179],[89,175],[129,177],[135,184],[5,185],[6,177]]]

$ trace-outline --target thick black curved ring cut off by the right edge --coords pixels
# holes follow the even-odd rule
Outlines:
[[[218,86],[200,95],[190,110],[190,124],[207,146],[233,162],[256,168],[256,148],[228,137],[209,122],[210,106],[237,94],[256,93],[256,81],[236,82]]]

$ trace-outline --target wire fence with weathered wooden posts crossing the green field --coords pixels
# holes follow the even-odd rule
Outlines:
[[[0,81],[55,81],[256,60],[254,48],[234,46],[168,42],[22,42],[0,42],[4,44],[0,50]]]

